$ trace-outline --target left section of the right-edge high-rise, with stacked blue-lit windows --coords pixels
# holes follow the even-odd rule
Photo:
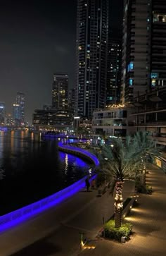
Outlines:
[[[125,0],[122,42],[122,103],[148,89],[150,0]]]

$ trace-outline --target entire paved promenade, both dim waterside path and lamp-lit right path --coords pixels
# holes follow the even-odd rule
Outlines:
[[[129,242],[96,238],[103,217],[108,219],[113,214],[113,197],[108,192],[97,197],[97,190],[82,191],[39,217],[1,233],[0,256],[166,255],[166,175],[150,166],[147,183],[152,185],[154,192],[141,194],[138,205],[127,217],[127,221],[134,224]],[[134,183],[126,182],[124,198],[131,195],[132,190]],[[94,250],[79,249],[81,232],[84,238],[91,240],[87,245],[95,246]]]

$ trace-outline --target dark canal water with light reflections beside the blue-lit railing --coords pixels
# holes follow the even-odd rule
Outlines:
[[[57,143],[28,131],[0,132],[0,215],[56,193],[87,173],[89,164],[59,152]]]

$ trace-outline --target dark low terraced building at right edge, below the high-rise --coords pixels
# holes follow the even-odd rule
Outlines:
[[[166,86],[134,98],[132,107],[136,130],[146,131],[156,143],[166,145]]]

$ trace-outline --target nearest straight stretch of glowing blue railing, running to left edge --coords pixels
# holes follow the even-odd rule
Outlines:
[[[34,216],[35,214],[39,214],[50,207],[58,205],[68,197],[75,195],[75,193],[85,187],[85,178],[86,177],[70,185],[68,188],[64,188],[63,190],[50,195],[49,197],[1,216],[0,231],[5,231],[7,228],[20,224],[21,222],[30,219],[30,217]],[[93,178],[96,178],[96,174],[91,176],[89,181],[91,181]]]

